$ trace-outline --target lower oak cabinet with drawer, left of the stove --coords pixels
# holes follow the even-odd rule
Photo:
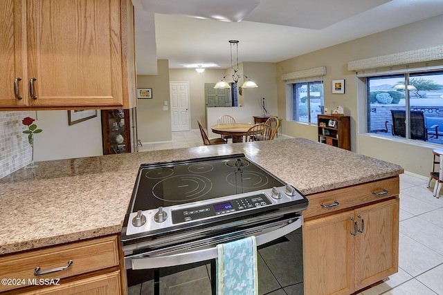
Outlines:
[[[0,278],[2,295],[127,293],[117,235],[1,256]]]

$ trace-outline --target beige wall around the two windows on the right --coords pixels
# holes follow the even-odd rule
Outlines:
[[[392,140],[392,137],[382,139],[380,136],[358,133],[358,124],[361,124],[360,126],[365,124],[365,113],[359,112],[358,79],[355,72],[347,70],[347,62],[443,44],[442,27],[443,15],[279,62],[277,79],[280,117],[287,113],[286,85],[280,80],[280,76],[296,70],[326,66],[325,108],[333,110],[340,105],[345,108],[345,115],[350,115],[352,151],[393,162],[404,167],[406,171],[428,176],[431,169],[432,149],[441,148],[441,145],[424,142],[406,143],[405,140]],[[345,94],[332,94],[333,79],[345,79]],[[282,127],[282,133],[285,135],[317,140],[316,126],[284,122]]]

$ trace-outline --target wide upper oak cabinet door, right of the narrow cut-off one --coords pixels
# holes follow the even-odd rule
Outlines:
[[[119,0],[27,1],[26,15],[31,107],[123,105]]]

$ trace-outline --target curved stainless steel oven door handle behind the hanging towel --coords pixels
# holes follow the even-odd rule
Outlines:
[[[266,244],[266,242],[277,240],[278,238],[281,238],[282,236],[287,235],[292,231],[295,231],[296,229],[299,229],[302,226],[303,217],[299,216],[298,218],[291,218],[291,220],[288,220],[288,222],[290,223],[288,225],[285,225],[284,227],[280,227],[273,231],[255,236],[257,246]],[[130,263],[132,264],[132,269],[154,269],[158,267],[186,265],[188,263],[197,263],[214,258],[217,258],[217,247],[157,257],[129,257]],[[129,263],[127,259],[128,258],[125,258],[125,262]]]

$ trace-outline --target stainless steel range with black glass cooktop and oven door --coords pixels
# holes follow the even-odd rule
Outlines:
[[[121,236],[129,294],[215,294],[217,245],[249,236],[260,294],[302,294],[307,204],[243,154],[142,165]]]

